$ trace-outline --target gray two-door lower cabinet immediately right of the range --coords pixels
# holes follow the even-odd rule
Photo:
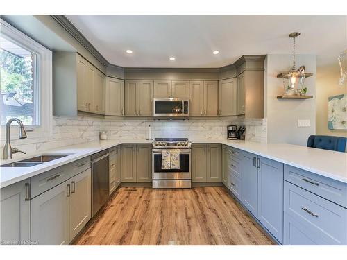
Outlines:
[[[221,144],[192,145],[192,182],[221,182]]]

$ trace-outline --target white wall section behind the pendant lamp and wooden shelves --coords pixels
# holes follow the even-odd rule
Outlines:
[[[287,143],[306,146],[307,138],[316,132],[316,56],[312,54],[296,55],[297,67],[305,65],[307,72],[314,76],[305,79],[305,87],[312,99],[277,99],[283,94],[283,80],[277,74],[288,71],[292,55],[269,54],[264,61],[264,117],[267,119],[267,142]],[[310,127],[298,128],[298,119],[309,119]]]

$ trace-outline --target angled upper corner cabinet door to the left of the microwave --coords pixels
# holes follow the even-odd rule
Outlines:
[[[105,114],[124,116],[124,80],[106,78]]]

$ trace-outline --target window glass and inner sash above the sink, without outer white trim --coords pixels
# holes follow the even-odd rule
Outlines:
[[[36,54],[0,36],[1,125],[17,117],[24,125],[40,125],[40,89],[37,87]]]

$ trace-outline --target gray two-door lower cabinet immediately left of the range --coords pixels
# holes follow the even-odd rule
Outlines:
[[[152,181],[152,145],[121,145],[121,182]]]

